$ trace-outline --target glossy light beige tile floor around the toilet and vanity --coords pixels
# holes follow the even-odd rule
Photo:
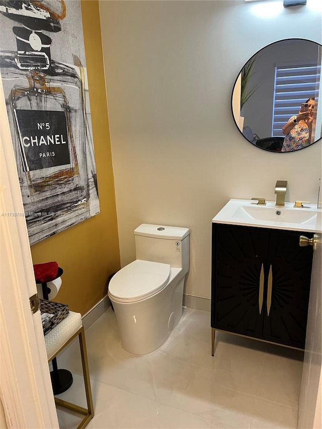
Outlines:
[[[186,309],[157,351],[133,356],[109,308],[86,331],[95,406],[90,428],[296,428],[303,353],[216,333],[210,313]],[[86,406],[77,342],[57,359],[74,382],[59,397]],[[61,429],[79,419],[59,409]]]

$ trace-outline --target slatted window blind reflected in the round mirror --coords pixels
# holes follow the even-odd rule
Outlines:
[[[315,97],[319,73],[316,63],[275,67],[272,136],[284,137],[282,127],[298,114],[301,103]]]

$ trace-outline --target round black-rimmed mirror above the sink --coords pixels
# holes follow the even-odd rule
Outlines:
[[[249,142],[283,153],[321,138],[321,48],[305,39],[280,40],[258,51],[240,70],[231,109]]]

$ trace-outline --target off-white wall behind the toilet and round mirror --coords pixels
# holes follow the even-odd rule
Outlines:
[[[321,43],[321,12],[266,2],[100,3],[121,264],[135,259],[140,223],[191,229],[185,292],[210,298],[211,219],[230,198],[317,200],[321,144],[269,153],[240,135],[231,115],[235,78],[278,39]],[[101,185],[102,186],[102,185]]]

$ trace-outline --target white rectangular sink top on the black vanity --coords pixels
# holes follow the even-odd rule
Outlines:
[[[316,204],[303,206],[295,208],[294,203],[285,203],[285,207],[276,207],[275,201],[267,201],[266,206],[261,206],[254,200],[233,199],[228,201],[212,221],[293,231],[321,231],[321,209],[316,209]]]

